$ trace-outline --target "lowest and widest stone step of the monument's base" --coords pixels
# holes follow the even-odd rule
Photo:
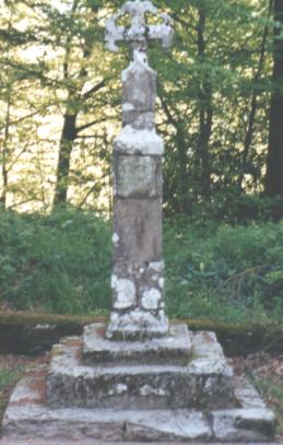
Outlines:
[[[3,420],[4,438],[96,440],[105,442],[268,442],[274,415],[249,384],[233,380],[237,409],[123,410],[46,406],[45,373],[22,379]],[[250,407],[252,406],[252,408]],[[84,442],[83,442],[84,443]]]

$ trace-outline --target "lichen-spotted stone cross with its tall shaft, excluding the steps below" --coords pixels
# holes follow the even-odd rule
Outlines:
[[[150,25],[146,13],[160,24]],[[118,26],[125,14],[130,27]],[[148,42],[168,47],[174,31],[167,14],[150,1],[127,1],[106,22],[107,47],[131,44],[132,60],[122,72],[122,130],[114,141],[113,311],[106,337],[145,340],[165,337],[162,258],[163,140],[155,131],[156,72],[148,63]]]

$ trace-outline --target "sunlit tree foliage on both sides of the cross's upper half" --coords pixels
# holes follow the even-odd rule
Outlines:
[[[0,7],[0,200],[5,208],[30,202],[33,210],[50,209],[59,181],[69,186],[72,204],[108,206],[109,153],[120,125],[120,72],[129,48],[106,50],[105,19],[122,2],[25,0]],[[233,195],[241,212],[237,196],[261,192],[264,183],[274,90],[269,2],[154,4],[172,15],[176,31],[170,50],[151,43],[149,51],[158,73],[166,211],[192,214],[201,204],[201,211],[214,212],[215,199],[222,208],[220,201]],[[74,119],[66,125],[69,132],[63,132],[66,116]],[[56,160],[67,133],[72,162],[59,178]],[[227,221],[240,220],[226,218],[226,208],[224,213]]]

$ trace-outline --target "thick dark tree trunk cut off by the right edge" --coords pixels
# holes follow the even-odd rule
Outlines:
[[[274,20],[283,25],[283,0],[274,0]],[[274,27],[273,93],[270,105],[269,147],[267,159],[266,195],[283,196],[283,39],[281,27]]]

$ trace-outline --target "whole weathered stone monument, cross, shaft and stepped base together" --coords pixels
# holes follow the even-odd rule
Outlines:
[[[149,25],[148,13],[162,23]],[[123,14],[129,28],[117,24]],[[20,382],[3,434],[121,443],[272,440],[273,413],[233,376],[215,335],[169,326],[164,312],[164,147],[146,49],[151,39],[170,45],[170,19],[134,0],[106,27],[108,48],[126,40],[132,54],[122,73],[123,127],[114,143],[113,311],[107,326],[89,325],[82,337],[62,339],[50,366]]]

